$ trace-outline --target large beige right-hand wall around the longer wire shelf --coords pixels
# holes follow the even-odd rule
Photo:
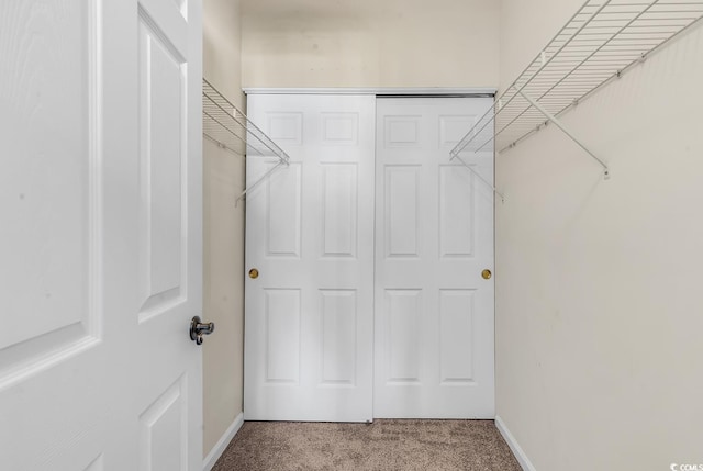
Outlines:
[[[581,0],[504,0],[501,83]],[[703,27],[496,158],[496,407],[539,471],[703,463]]]

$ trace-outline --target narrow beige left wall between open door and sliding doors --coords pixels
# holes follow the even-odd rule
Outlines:
[[[203,75],[242,109],[239,2],[204,0]],[[203,141],[204,319],[215,333],[203,344],[203,452],[242,412],[244,333],[244,158]]]

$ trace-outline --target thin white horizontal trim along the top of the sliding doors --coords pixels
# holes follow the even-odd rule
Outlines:
[[[245,88],[246,94],[400,94],[400,96],[494,96],[498,89],[491,87],[472,88]]]

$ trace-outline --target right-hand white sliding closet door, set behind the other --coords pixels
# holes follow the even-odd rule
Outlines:
[[[493,418],[493,192],[449,150],[489,98],[379,98],[375,417]],[[466,159],[493,180],[493,153]]]

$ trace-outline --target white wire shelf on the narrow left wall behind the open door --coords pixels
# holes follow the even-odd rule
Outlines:
[[[244,189],[237,201],[245,198],[249,190],[276,169],[288,166],[290,159],[288,154],[205,79],[202,80],[202,133],[219,147],[236,155],[247,158],[276,157],[278,159],[260,179]]]

